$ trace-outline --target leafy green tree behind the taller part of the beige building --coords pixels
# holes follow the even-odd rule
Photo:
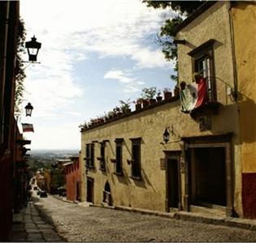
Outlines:
[[[166,19],[164,25],[160,28],[160,32],[157,35],[158,45],[162,45],[162,52],[164,58],[167,61],[176,61],[174,70],[178,71],[177,62],[177,47],[174,45],[173,40],[176,36],[176,28],[183,21],[187,15],[193,13],[197,7],[201,6],[203,1],[151,1],[143,0],[146,6],[154,8],[170,8],[170,11],[176,11],[176,17],[172,19]],[[177,75],[171,75],[171,80],[177,82]]]

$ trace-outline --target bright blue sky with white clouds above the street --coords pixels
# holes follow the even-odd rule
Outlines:
[[[140,0],[20,0],[20,16],[26,41],[41,42],[41,63],[25,69],[23,106],[33,114],[19,117],[33,124],[24,133],[32,150],[80,150],[80,124],[137,100],[143,87],[174,87],[173,63],[155,41],[167,10]]]

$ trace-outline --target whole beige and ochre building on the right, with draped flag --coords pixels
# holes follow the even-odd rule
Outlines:
[[[256,216],[255,11],[203,4],[176,31],[180,99],[81,130],[82,200]]]

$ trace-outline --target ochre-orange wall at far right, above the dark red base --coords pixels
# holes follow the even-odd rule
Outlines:
[[[242,173],[256,172],[256,4],[232,8],[238,91],[240,92]]]

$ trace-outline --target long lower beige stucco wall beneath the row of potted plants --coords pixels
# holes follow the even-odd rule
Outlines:
[[[165,127],[173,127],[174,134],[171,135],[170,142],[163,143],[163,132]],[[219,122],[216,133],[227,132],[227,125]],[[234,131],[228,127],[228,131]],[[193,137],[212,134],[211,131],[199,131],[198,123],[188,114],[180,112],[180,101],[163,104],[154,109],[133,114],[131,117],[124,117],[116,122],[98,126],[91,130],[82,132],[81,136],[81,168],[82,168],[82,201],[85,201],[86,181],[85,181],[85,144],[94,140],[110,140],[106,143],[106,173],[99,169],[100,145],[95,143],[95,170],[89,169],[88,177],[94,179],[94,202],[102,203],[102,191],[106,181],[111,185],[111,194],[115,206],[136,207],[156,211],[165,211],[166,198],[166,174],[160,169],[160,158],[164,158],[163,151],[181,151],[183,143],[180,137]],[[142,181],[134,181],[131,175],[131,165],[127,160],[131,160],[132,138],[141,137],[141,174]],[[111,159],[115,159],[115,139],[124,138],[123,146],[123,168],[124,177],[116,176],[114,164]],[[182,199],[184,198],[184,173],[181,173]],[[183,206],[184,206],[184,202]]]

